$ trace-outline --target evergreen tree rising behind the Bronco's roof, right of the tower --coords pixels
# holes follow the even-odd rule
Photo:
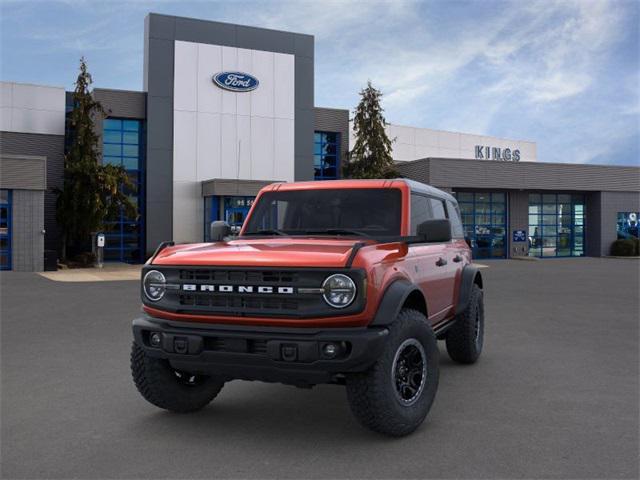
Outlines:
[[[380,100],[382,92],[367,82],[360,91],[360,103],[353,118],[355,145],[349,152],[344,167],[348,178],[394,178],[398,176],[391,157],[392,140],[384,127],[387,125]]]

